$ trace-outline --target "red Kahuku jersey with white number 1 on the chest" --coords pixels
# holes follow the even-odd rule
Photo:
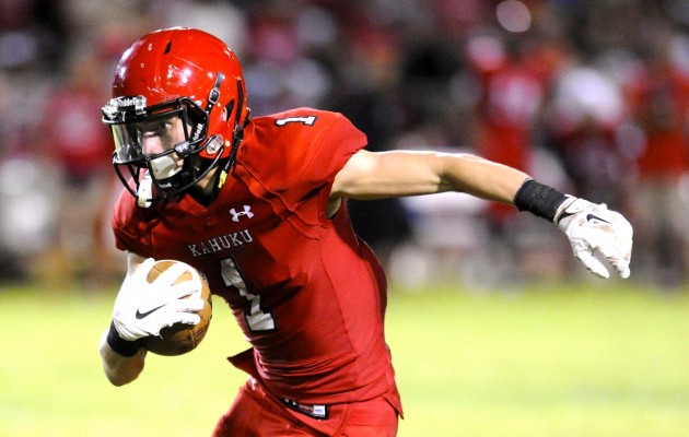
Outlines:
[[[117,247],[203,272],[278,397],[329,404],[385,395],[400,410],[383,332],[384,272],[346,205],[326,214],[335,176],[365,144],[340,114],[301,108],[253,119],[210,205],[187,194],[142,209],[124,191],[113,215]]]

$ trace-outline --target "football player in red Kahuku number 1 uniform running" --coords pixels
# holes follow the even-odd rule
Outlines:
[[[103,121],[126,188],[112,223],[128,252],[100,345],[105,374],[135,380],[142,338],[198,322],[198,290],[145,281],[154,259],[194,265],[250,342],[230,358],[249,377],[217,436],[396,435],[385,274],[347,199],[459,191],[514,204],[559,226],[594,274],[630,273],[632,228],[604,204],[472,155],[367,152],[341,114],[249,118],[240,61],[198,29],[156,31],[127,49]]]

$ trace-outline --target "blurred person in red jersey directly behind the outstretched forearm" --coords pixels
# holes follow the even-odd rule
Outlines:
[[[536,52],[529,49],[526,39],[505,42],[495,33],[471,36],[467,43],[467,58],[481,90],[476,107],[476,152],[534,174],[532,154],[547,78],[534,68]],[[490,203],[486,217],[497,275],[504,282],[517,282],[522,269],[515,260],[526,256],[518,238],[523,215],[511,205]]]

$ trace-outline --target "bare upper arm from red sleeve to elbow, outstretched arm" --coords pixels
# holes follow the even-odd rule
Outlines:
[[[433,152],[361,150],[335,177],[331,198],[367,200],[445,191],[442,166]]]

